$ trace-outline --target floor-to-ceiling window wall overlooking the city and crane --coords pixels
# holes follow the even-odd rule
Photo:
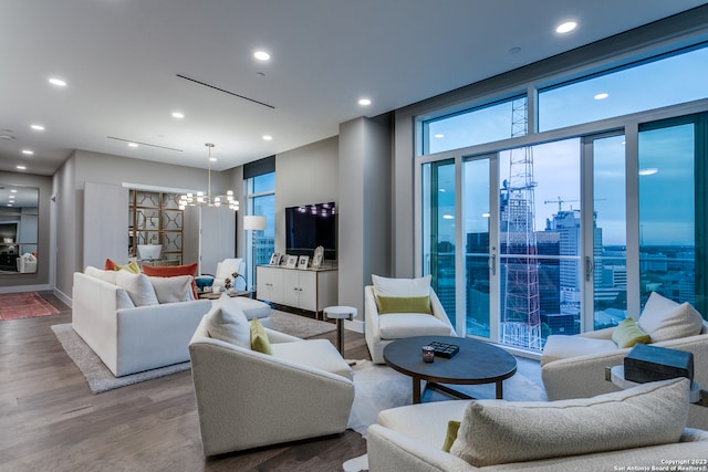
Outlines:
[[[707,64],[701,45],[420,119],[421,266],[458,333],[538,353],[652,291],[706,311]]]

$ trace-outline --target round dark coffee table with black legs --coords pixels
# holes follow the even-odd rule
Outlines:
[[[434,363],[424,363],[420,349],[437,340],[455,344],[460,350],[446,359],[438,355]],[[420,381],[458,398],[472,398],[440,384],[496,384],[497,398],[503,396],[502,381],[517,373],[517,359],[506,350],[480,340],[454,336],[415,336],[397,339],[384,347],[384,360],[394,370],[413,377],[413,402],[420,402]]]

